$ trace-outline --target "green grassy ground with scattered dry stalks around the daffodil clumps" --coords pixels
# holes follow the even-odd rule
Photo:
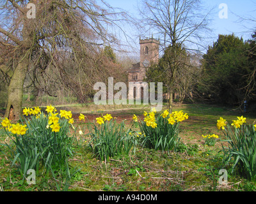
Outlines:
[[[79,106],[72,108],[72,112],[82,110]],[[183,110],[189,115],[189,119],[180,124],[183,144],[179,145],[177,152],[163,153],[161,150],[139,148],[136,154],[131,150],[128,156],[100,161],[88,149],[88,138],[84,135],[77,138],[74,147],[76,154],[69,161],[71,179],[40,174],[36,175],[35,185],[28,185],[26,180],[22,182],[17,168],[10,165],[8,149],[0,146],[0,187],[4,191],[255,191],[254,182],[239,177],[236,171],[231,173],[231,166],[223,166],[223,154],[220,152],[222,142],[208,147],[202,138],[206,134],[223,136],[223,132],[216,128],[216,120],[224,117],[231,122],[241,113],[208,105],[184,105],[174,109]],[[149,108],[125,109],[121,112],[113,108],[108,113],[127,119],[125,124],[128,128],[132,124],[132,115],[142,115],[145,110]],[[92,118],[100,113],[90,112]],[[244,117],[248,123],[255,120],[255,115]],[[85,125],[80,123],[81,128]],[[9,142],[1,131],[0,143]],[[222,168],[228,171],[228,184],[221,186],[218,173]]]

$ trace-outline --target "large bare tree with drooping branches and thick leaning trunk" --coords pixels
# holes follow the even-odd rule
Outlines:
[[[27,8],[28,3],[35,5],[35,18],[28,18],[31,9]],[[34,84],[42,80],[54,84],[56,76],[58,84],[65,84],[72,70],[78,70],[78,75],[83,73],[83,80],[88,84],[99,73],[102,77],[107,75],[108,72],[100,69],[102,66],[95,67],[101,63],[99,47],[118,43],[115,33],[109,31],[114,31],[114,27],[122,31],[120,24],[127,20],[127,15],[104,1],[100,4],[93,0],[1,1],[0,70],[9,82],[5,117],[19,119],[22,115],[24,80],[28,73],[36,74],[34,78],[30,75]],[[74,69],[64,66],[66,57],[72,59]],[[76,87],[83,92],[81,78],[76,79]],[[74,85],[75,81],[71,82]],[[43,87],[47,94],[56,95],[49,85],[47,88],[47,83]]]

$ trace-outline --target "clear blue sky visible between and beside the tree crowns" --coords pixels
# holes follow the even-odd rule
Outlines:
[[[218,39],[219,34],[234,33],[239,38],[243,37],[243,40],[251,38],[253,28],[256,28],[256,0],[201,1],[207,10],[212,8],[212,14],[209,16],[212,20],[209,24],[212,29],[211,40],[207,42],[209,45],[212,45]],[[106,2],[113,7],[122,8],[132,15],[136,15],[141,0],[106,0]],[[227,10],[225,10],[226,8]],[[255,22],[250,20],[241,21],[241,17],[254,18]]]

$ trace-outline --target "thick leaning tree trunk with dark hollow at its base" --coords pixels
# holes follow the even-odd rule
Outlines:
[[[22,115],[23,85],[29,65],[28,53],[22,55],[20,59],[8,89],[8,102],[4,117],[10,120],[19,120]]]

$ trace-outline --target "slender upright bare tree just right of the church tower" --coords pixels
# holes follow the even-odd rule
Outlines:
[[[202,36],[208,31],[208,14],[204,14],[199,0],[145,0],[143,17],[145,27],[151,32],[159,34],[163,50],[170,45],[171,57],[168,57],[165,72],[168,75],[168,89],[170,93],[169,108],[172,110],[175,78],[183,67],[180,59],[184,52],[179,52],[180,47],[186,50],[202,50]]]

